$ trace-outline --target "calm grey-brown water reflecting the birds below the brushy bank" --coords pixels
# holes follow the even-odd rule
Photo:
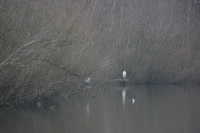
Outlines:
[[[54,110],[0,110],[0,133],[56,132],[200,133],[200,87],[108,87],[92,99],[60,100]]]

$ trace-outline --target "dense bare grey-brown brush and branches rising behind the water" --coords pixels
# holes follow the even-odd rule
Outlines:
[[[0,0],[0,102],[123,70],[135,83],[199,83],[199,43],[198,0]]]

